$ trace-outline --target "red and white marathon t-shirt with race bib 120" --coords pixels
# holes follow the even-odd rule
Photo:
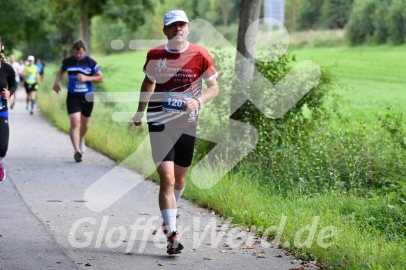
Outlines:
[[[155,90],[147,108],[147,122],[166,127],[197,125],[198,109],[182,113],[185,97],[202,93],[202,79],[217,77],[212,57],[207,49],[189,43],[182,51],[171,51],[167,45],[150,49],[143,72],[155,81]]]

